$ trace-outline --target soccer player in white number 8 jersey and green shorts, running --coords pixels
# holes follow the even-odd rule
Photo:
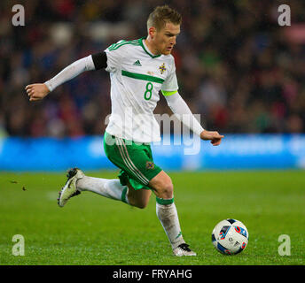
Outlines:
[[[170,53],[181,22],[177,11],[168,5],[158,6],[148,17],[146,37],[114,43],[105,51],[68,65],[51,80],[28,85],[26,90],[29,101],[34,102],[84,71],[109,72],[112,114],[104,134],[104,149],[110,161],[121,169],[119,179],[93,178],[74,168],[59,193],[59,206],[82,191],[91,191],[144,209],[153,192],[156,213],[174,255],[196,256],[181,233],[172,180],[153,163],[150,147],[151,142],[160,141],[160,128],[153,116],[159,92],[184,125],[202,140],[217,146],[223,138],[218,132],[204,130],[178,93],[175,61]]]

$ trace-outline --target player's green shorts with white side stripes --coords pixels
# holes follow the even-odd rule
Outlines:
[[[149,144],[132,142],[104,134],[106,157],[121,169],[119,179],[121,185],[128,181],[134,189],[151,189],[148,183],[162,169],[153,163],[152,149]]]

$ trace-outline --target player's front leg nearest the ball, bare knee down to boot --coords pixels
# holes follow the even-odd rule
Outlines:
[[[168,174],[161,171],[149,182],[156,195],[156,213],[176,256],[196,256],[184,241],[174,203],[174,186]]]

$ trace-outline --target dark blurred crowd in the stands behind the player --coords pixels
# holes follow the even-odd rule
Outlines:
[[[25,8],[24,27],[12,25],[13,4]],[[103,134],[111,111],[106,71],[82,73],[38,103],[28,102],[24,88],[113,42],[145,36],[146,19],[159,4],[165,2],[1,1],[0,136]],[[304,1],[289,1],[291,27],[278,25],[281,1],[166,4],[183,16],[172,53],[179,93],[205,128],[223,134],[304,132]],[[94,23],[107,28],[93,32]],[[171,113],[164,97],[155,113]]]

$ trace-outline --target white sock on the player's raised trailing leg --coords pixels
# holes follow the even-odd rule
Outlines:
[[[127,186],[121,186],[118,179],[102,179],[84,176],[77,180],[76,187],[81,191],[90,191],[98,195],[103,195],[113,200],[129,203]]]

